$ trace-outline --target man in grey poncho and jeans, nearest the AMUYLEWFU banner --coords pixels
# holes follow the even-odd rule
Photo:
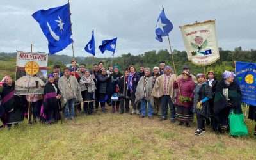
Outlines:
[[[63,76],[59,79],[59,89],[61,92],[61,106],[64,109],[64,118],[74,120],[74,105],[76,100],[81,102],[81,87],[76,77],[70,76],[69,68],[63,69]]]

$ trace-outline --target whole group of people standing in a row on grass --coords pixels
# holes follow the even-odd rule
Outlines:
[[[152,70],[141,65],[138,72],[130,65],[122,74],[117,65],[104,68],[100,61],[93,65],[93,70],[88,70],[84,64],[77,67],[76,60],[72,60],[72,67],[63,68],[63,72],[60,66],[54,66],[43,95],[14,95],[15,84],[10,76],[5,76],[0,118],[8,129],[23,121],[28,114],[29,124],[35,124],[39,118],[40,122],[51,125],[61,116],[65,121],[74,120],[76,110],[92,115],[99,111],[100,106],[102,113],[108,113],[108,104],[111,113],[129,113],[150,119],[161,116],[159,120],[163,121],[168,119],[170,108],[171,123],[177,121],[178,125],[190,127],[196,116],[196,135],[206,132],[205,125],[224,133],[229,130],[230,110],[242,113],[242,109],[234,72],[226,70],[222,76],[223,79],[217,81],[212,70],[207,75],[199,73],[194,76],[189,67],[184,67],[182,74],[177,76],[164,62]],[[249,118],[256,121],[255,106],[250,106]]]

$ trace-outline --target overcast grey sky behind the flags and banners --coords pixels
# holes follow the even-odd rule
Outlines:
[[[62,0],[1,0],[0,52],[48,52],[47,39],[38,22],[31,16],[37,10],[47,10],[66,4]],[[146,51],[168,49],[168,39],[155,40],[155,26],[164,6],[166,17],[173,23],[170,32],[172,50],[184,51],[179,26],[195,21],[216,19],[218,46],[234,50],[256,49],[256,1],[253,0],[70,0],[75,56],[91,56],[84,46],[95,31],[95,56],[101,54],[102,40],[118,37],[115,56],[143,54]],[[72,45],[58,54],[72,56]]]

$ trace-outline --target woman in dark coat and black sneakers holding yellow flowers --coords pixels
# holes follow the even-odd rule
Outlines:
[[[196,113],[198,129],[196,135],[201,135],[205,131],[205,118],[209,118],[210,104],[209,99],[212,99],[212,90],[209,84],[205,83],[205,75],[197,74],[197,81],[194,93],[193,113]]]

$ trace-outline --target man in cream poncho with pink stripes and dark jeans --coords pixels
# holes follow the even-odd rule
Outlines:
[[[172,100],[174,100],[173,83],[177,79],[176,77],[176,74],[172,73],[172,67],[166,66],[164,68],[164,74],[157,77],[156,79],[152,95],[156,98],[161,99],[161,121],[167,119],[169,104],[171,112],[171,122],[175,122],[175,107],[173,106]]]

